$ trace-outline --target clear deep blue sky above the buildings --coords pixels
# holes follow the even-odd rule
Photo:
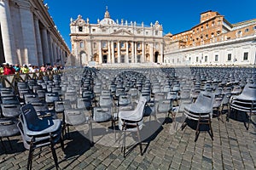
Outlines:
[[[70,48],[70,18],[81,14],[90,23],[102,20],[108,6],[113,20],[144,22],[156,20],[163,25],[164,33],[187,31],[199,24],[200,14],[207,10],[218,11],[231,24],[256,19],[256,0],[44,0],[49,14]]]

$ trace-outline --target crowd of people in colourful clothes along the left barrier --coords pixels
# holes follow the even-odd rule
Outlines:
[[[62,65],[42,65],[40,67],[36,65],[9,65],[9,63],[3,63],[0,67],[1,75],[12,75],[17,73],[32,73],[40,71],[58,71],[62,70]]]

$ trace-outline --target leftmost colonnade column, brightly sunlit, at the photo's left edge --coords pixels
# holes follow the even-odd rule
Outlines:
[[[0,23],[5,61],[15,64],[18,59],[15,52],[15,35],[9,10],[9,0],[0,0]]]

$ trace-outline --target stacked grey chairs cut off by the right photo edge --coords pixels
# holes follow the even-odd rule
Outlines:
[[[249,129],[252,115],[256,113],[256,84],[247,84],[240,95],[232,96],[230,98],[230,110],[243,111],[249,113],[248,122],[246,125]],[[227,121],[230,118],[230,111],[228,112]],[[246,123],[245,123],[246,124]]]

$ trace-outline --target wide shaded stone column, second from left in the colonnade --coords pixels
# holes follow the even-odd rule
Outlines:
[[[24,48],[27,49],[25,58],[27,63],[38,65],[38,51],[36,44],[35,28],[31,5],[28,2],[19,3],[20,23]]]

